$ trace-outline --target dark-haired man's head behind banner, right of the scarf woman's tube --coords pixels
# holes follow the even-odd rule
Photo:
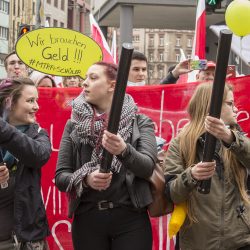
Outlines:
[[[148,77],[148,62],[144,54],[134,51],[127,86],[144,86]]]

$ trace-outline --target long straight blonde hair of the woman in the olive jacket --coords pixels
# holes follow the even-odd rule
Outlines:
[[[180,140],[180,154],[184,159],[185,168],[196,164],[197,141],[200,136],[205,133],[205,119],[209,113],[210,100],[212,95],[211,83],[199,84],[196,88],[188,105],[188,114],[190,122],[181,130],[178,137]],[[225,101],[229,91],[233,91],[233,87],[229,84],[225,85],[223,101]],[[236,130],[236,126],[232,127]],[[221,148],[221,155],[224,162],[225,170],[231,179],[235,178],[242,199],[249,203],[245,187],[246,171],[241,163],[236,159],[235,155],[224,147]],[[196,218],[192,212],[191,200],[188,200],[188,216],[192,221]]]

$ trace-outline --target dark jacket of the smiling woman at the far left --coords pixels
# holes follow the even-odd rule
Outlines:
[[[51,153],[48,134],[37,124],[30,125],[22,133],[0,118],[0,147],[17,159],[15,234],[22,242],[42,240],[50,233],[41,197],[41,167],[49,160]]]

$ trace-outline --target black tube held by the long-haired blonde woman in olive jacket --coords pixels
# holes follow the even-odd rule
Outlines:
[[[210,101],[209,115],[220,118],[221,106],[225,88],[225,79],[227,74],[228,58],[230,54],[232,41],[232,32],[230,30],[221,30],[219,45],[217,50],[215,76],[213,82],[213,90]],[[205,134],[205,146],[203,151],[203,162],[212,162],[214,159],[214,151],[216,146],[216,138],[210,133]],[[198,191],[202,194],[210,192],[211,179],[201,181]]]

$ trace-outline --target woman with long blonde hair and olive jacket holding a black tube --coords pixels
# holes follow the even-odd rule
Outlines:
[[[181,249],[249,250],[250,139],[237,124],[232,86],[225,85],[221,119],[208,115],[212,88],[211,83],[197,86],[188,105],[190,122],[170,143],[166,194],[175,204],[187,204]],[[217,139],[212,162],[202,162],[205,132]],[[209,178],[210,192],[201,194],[200,182]]]

